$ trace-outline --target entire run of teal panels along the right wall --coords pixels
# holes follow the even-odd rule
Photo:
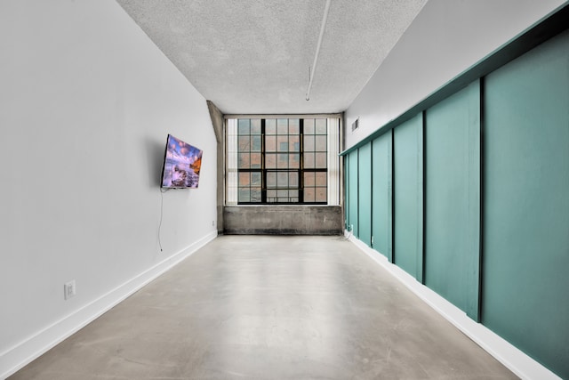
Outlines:
[[[355,236],[569,379],[567,12],[342,155]]]

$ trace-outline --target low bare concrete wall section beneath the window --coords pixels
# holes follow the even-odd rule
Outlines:
[[[225,206],[228,235],[341,235],[341,206]]]

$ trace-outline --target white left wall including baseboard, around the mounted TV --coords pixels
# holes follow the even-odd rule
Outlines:
[[[0,52],[2,377],[213,239],[217,165],[206,101],[115,1],[3,0]],[[199,189],[161,194],[167,133]]]

